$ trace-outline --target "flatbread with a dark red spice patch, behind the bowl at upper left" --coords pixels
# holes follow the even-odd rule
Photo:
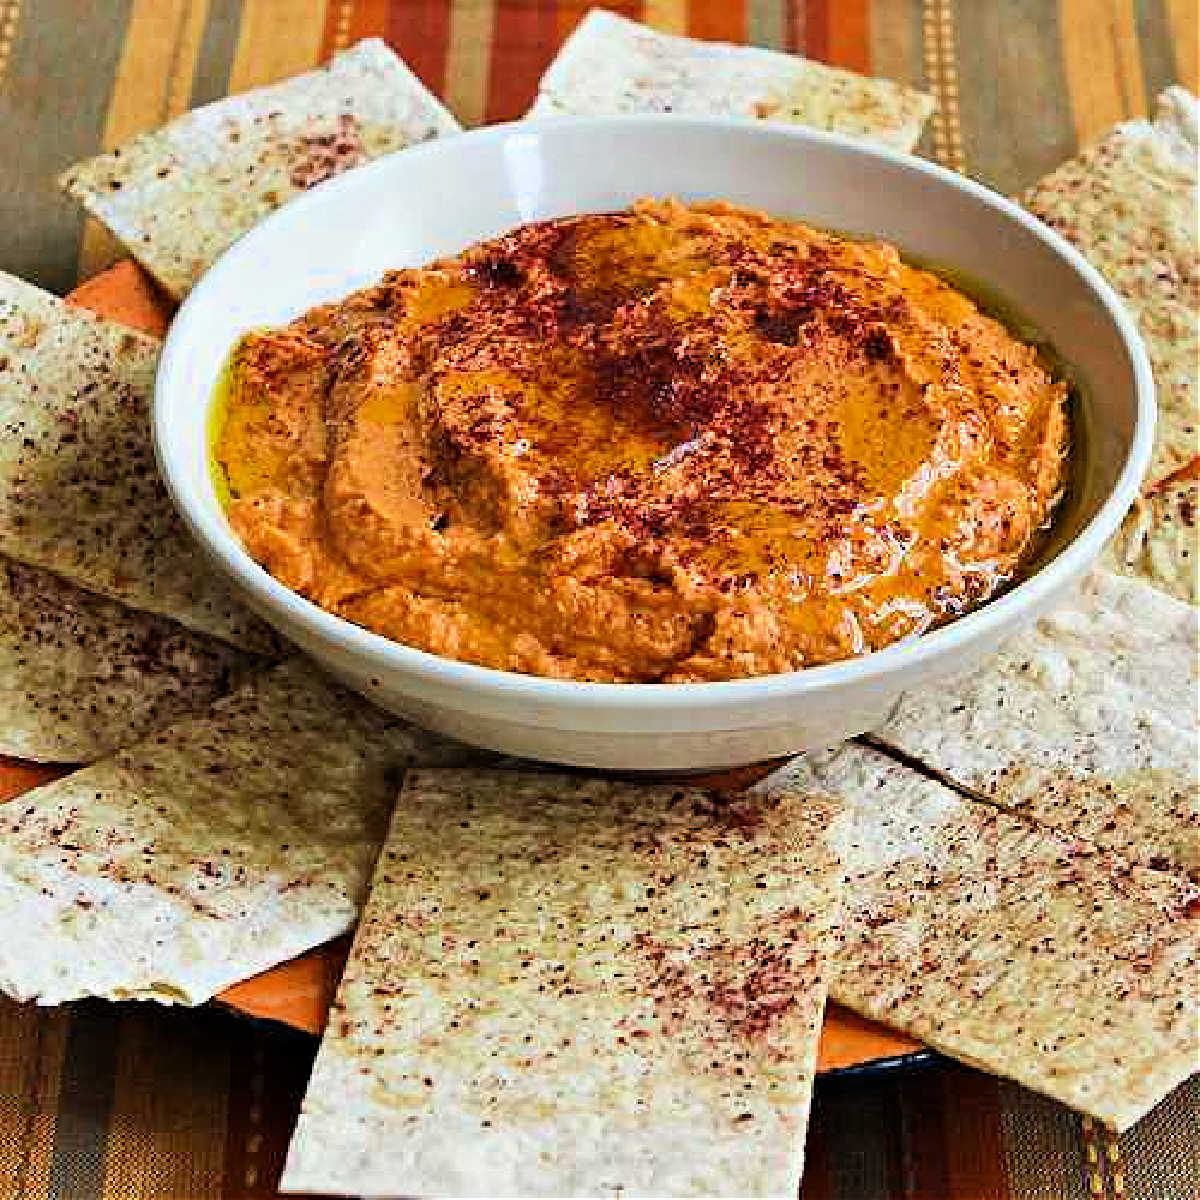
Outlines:
[[[328,67],[205,104],[59,182],[176,300],[281,204],[458,124],[378,38]]]

